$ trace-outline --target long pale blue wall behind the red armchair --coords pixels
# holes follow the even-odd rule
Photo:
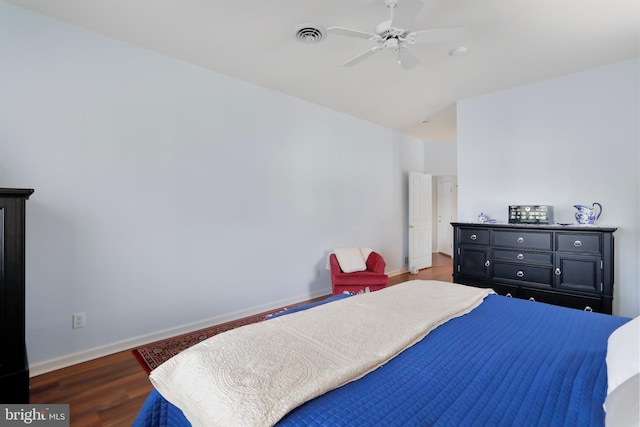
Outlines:
[[[0,61],[32,374],[327,294],[335,247],[402,268],[422,141],[2,1]]]

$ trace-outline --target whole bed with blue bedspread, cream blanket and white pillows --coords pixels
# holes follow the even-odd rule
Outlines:
[[[394,288],[397,289],[394,291]],[[404,317],[414,315],[412,310],[416,310],[414,317],[421,317],[421,311],[439,312],[444,306],[455,305],[452,298],[458,298],[458,292],[465,294],[465,303],[456,306],[453,314],[438,314],[428,320],[420,318],[422,332],[413,332],[413,324],[403,323],[407,322]],[[361,306],[366,306],[368,311],[358,312]],[[342,319],[344,312],[355,313],[353,319]],[[387,312],[393,313],[387,315]],[[323,316],[338,319],[325,326],[323,322],[328,320]],[[637,361],[633,359],[637,360],[638,350],[637,342],[632,341],[637,340],[638,319],[630,322],[623,317],[502,297],[490,290],[422,280],[371,294],[337,295],[274,317],[261,322],[255,331],[252,325],[238,328],[241,331],[229,341],[224,341],[226,337],[220,342],[214,340],[211,347],[205,345],[200,353],[198,349],[185,350],[171,359],[174,365],[157,377],[154,377],[156,371],[164,369],[168,362],[154,370],[150,379],[155,389],[134,425],[603,426],[605,399],[607,425],[618,413],[626,422],[631,417],[631,423],[637,416],[637,394],[633,394],[634,387],[637,393],[634,385],[637,384]],[[277,350],[281,353],[276,357],[282,359],[282,365],[296,365],[295,375],[300,377],[300,372],[304,372],[305,381],[289,381],[288,374],[274,371],[274,364],[282,369],[278,360],[260,365],[260,360],[247,362],[244,356],[233,351],[238,350],[236,347],[243,336],[247,336],[249,342],[264,336],[267,342],[275,343],[277,339],[269,334],[291,325],[302,325],[306,333],[316,328],[314,322],[319,331],[331,330],[329,335],[345,332],[348,340],[342,343],[345,348],[340,351],[328,344],[333,353],[340,353],[335,355],[338,363],[327,363],[324,371],[307,372],[298,369],[297,363],[290,363],[289,356],[282,352],[288,344],[291,352],[297,354],[295,339],[290,341],[291,337],[286,337],[287,344]],[[630,328],[631,324],[635,329]],[[263,327],[267,329],[260,329]],[[337,329],[341,331],[336,332]],[[405,330],[411,332],[405,333]],[[401,349],[379,351],[375,348],[386,341],[395,342],[396,335],[401,337],[400,341],[406,341]],[[614,352],[610,341],[616,336],[619,338]],[[316,339],[313,335],[300,338],[301,342],[310,340],[326,345],[324,338]],[[367,360],[369,365],[364,370],[352,369],[350,360],[360,358],[357,348],[369,342],[374,347],[367,349],[363,357],[373,360]],[[268,361],[271,356],[264,355],[264,347],[256,346],[263,352],[258,352],[257,359],[264,357]],[[279,347],[274,344],[274,348]],[[243,351],[246,349],[240,348],[240,353]],[[187,352],[190,353],[182,356]],[[210,360],[200,360],[212,352],[231,356],[221,359],[218,354]],[[321,365],[320,357],[325,356],[313,353],[302,357],[310,358],[313,366]],[[234,369],[221,368],[233,363],[234,358],[239,358]],[[343,362],[346,366],[342,366]],[[220,376],[223,371],[224,375]],[[211,372],[217,372],[218,377],[209,378]],[[257,379],[254,383],[244,382],[241,387],[234,383],[232,392],[223,389],[214,390],[219,394],[210,394],[212,389],[207,387],[211,383],[239,381],[229,377],[234,372],[242,378],[256,373]],[[333,373],[339,378],[329,375]],[[268,411],[280,406],[280,394],[287,394],[289,389],[298,387],[298,383],[306,386],[306,383],[322,382],[325,377],[327,384],[322,387],[326,390],[313,389],[304,401],[287,403],[280,412],[271,414],[271,418],[251,414],[263,403]],[[634,378],[635,383],[630,378]],[[270,384],[265,386],[265,381]],[[279,383],[284,384],[284,390],[277,389]],[[202,385],[206,387],[201,389]],[[253,387],[273,386],[276,387],[273,393],[269,388],[266,393],[262,390],[262,394],[251,391]],[[239,387],[242,392],[236,393]],[[175,391],[180,388],[181,392]],[[237,394],[233,396],[235,400],[227,401],[234,393]],[[256,397],[257,402],[252,400]],[[194,408],[190,400],[198,402],[196,406],[208,407]],[[248,418],[245,412],[250,413]],[[224,416],[218,418],[219,413]]]

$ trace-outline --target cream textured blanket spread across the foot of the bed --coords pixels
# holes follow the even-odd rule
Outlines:
[[[490,293],[405,282],[216,335],[169,359],[150,379],[193,426],[270,426],[386,363]]]

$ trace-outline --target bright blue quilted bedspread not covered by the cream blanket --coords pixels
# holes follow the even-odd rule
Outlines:
[[[603,426],[607,338],[628,320],[490,295],[278,426]],[[190,424],[154,390],[134,425]]]

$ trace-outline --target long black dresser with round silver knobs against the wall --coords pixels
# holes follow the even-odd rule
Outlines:
[[[452,225],[455,283],[611,314],[616,228]]]

